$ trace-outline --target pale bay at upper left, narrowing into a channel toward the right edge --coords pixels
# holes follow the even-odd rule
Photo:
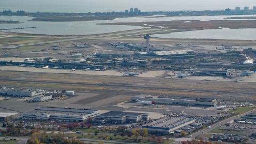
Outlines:
[[[89,35],[102,34],[115,31],[140,29],[148,27],[140,26],[115,26],[115,25],[97,25],[97,23],[113,23],[113,22],[145,22],[148,21],[171,21],[171,20],[223,20],[227,17],[235,17],[237,15],[218,15],[218,16],[195,16],[195,17],[161,17],[161,18],[117,18],[115,20],[97,20],[97,21],[71,21],[71,22],[49,22],[49,21],[28,21],[32,17],[18,16],[1,16],[0,20],[17,20],[23,23],[17,24],[0,24],[1,29],[36,27],[31,29],[13,29],[5,31],[13,31],[17,33],[28,34],[47,34],[47,35]],[[239,17],[247,17],[249,15],[239,15]],[[250,15],[255,16],[255,15]]]

